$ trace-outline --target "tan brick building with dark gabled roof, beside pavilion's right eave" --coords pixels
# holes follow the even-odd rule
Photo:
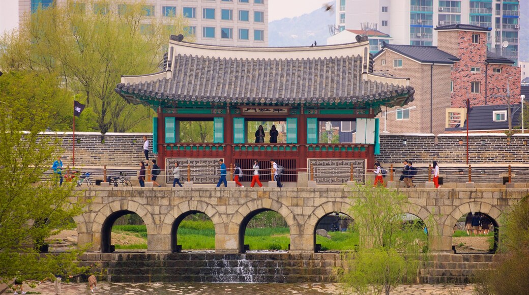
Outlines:
[[[445,109],[450,107],[450,69],[457,60],[436,47],[384,44],[373,57],[375,73],[409,78],[416,87],[415,100],[405,108],[383,109],[380,131],[444,132]]]

